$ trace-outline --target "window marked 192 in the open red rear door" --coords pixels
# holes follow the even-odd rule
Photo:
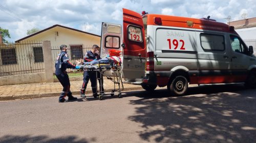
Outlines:
[[[128,39],[131,41],[142,42],[141,28],[133,25],[128,26]]]

